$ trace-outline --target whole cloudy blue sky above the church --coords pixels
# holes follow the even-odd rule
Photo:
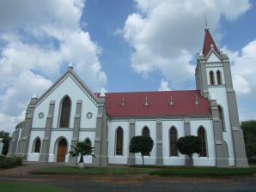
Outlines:
[[[29,98],[69,63],[95,92],[195,89],[205,15],[232,63],[240,117],[255,119],[254,1],[6,0],[0,3],[0,129],[12,131]]]

